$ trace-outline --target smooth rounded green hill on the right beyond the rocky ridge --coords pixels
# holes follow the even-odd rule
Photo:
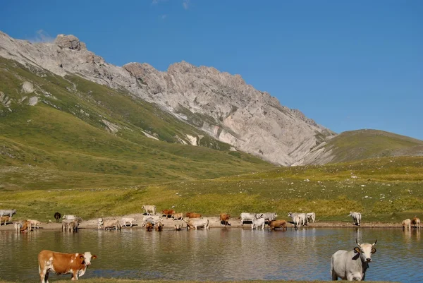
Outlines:
[[[347,131],[331,138],[326,152],[331,150],[331,162],[388,157],[423,156],[423,140],[377,130]]]

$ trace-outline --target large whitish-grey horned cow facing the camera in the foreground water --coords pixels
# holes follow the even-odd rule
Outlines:
[[[333,253],[331,258],[331,275],[332,280],[338,280],[340,277],[348,281],[364,281],[366,277],[366,270],[369,268],[369,263],[372,261],[372,253],[376,253],[374,243],[358,243],[353,251],[337,251]]]

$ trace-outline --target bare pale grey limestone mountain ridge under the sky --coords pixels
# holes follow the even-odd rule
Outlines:
[[[237,150],[281,165],[307,164],[309,154],[334,133],[275,97],[247,85],[239,75],[180,62],[166,72],[149,64],[107,64],[78,38],[31,44],[0,32],[0,56],[56,73],[75,73],[134,97],[159,104]],[[313,151],[315,155],[315,150]],[[308,156],[308,157],[307,157]]]

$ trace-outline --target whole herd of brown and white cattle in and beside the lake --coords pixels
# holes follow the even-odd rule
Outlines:
[[[147,231],[161,231],[164,227],[162,222],[163,217],[168,219],[169,217],[173,220],[180,220],[179,224],[175,224],[175,229],[180,230],[183,228],[183,223],[186,223],[186,229],[198,229],[204,227],[209,229],[209,219],[202,217],[200,213],[187,212],[185,218],[182,212],[176,213],[175,210],[162,210],[161,214],[157,215],[155,205],[143,205],[142,208],[145,210],[145,215],[142,218],[142,227],[145,227]],[[0,210],[0,225],[1,222],[6,224],[6,221],[11,221],[13,215],[16,214],[16,210]],[[251,222],[251,229],[264,229],[265,224],[269,225],[269,229],[273,230],[276,228],[286,229],[287,221],[276,219],[278,215],[276,212],[266,213],[247,213],[243,212],[240,214],[240,224],[244,222]],[[361,213],[350,212],[350,217],[353,218],[355,225],[361,225]],[[298,213],[289,212],[288,217],[292,219],[292,223],[295,229],[301,226],[307,226],[309,222],[314,222],[316,215],[314,212],[309,213]],[[54,214],[56,222],[62,218],[62,231],[78,231],[78,226],[82,222],[81,217],[76,215],[63,215],[59,212]],[[219,220],[222,225],[230,226],[229,219],[231,215],[227,213],[221,213]],[[116,229],[120,230],[122,227],[133,227],[133,223],[137,222],[137,219],[133,217],[121,217],[119,219],[103,219],[97,220],[98,229]],[[28,219],[27,221],[14,222],[16,231],[25,232],[31,231],[32,227],[35,229],[39,228],[41,222],[37,220]],[[420,228],[420,219],[416,216],[413,219],[405,219],[403,221],[403,229],[411,229],[411,227]],[[372,261],[372,254],[376,253],[374,243],[358,243],[353,251],[337,251],[333,253],[331,257],[331,277],[332,280],[341,278],[348,281],[362,281],[364,280],[369,263]],[[57,253],[54,251],[41,251],[38,255],[39,265],[39,276],[42,283],[48,283],[49,272],[56,274],[69,274],[73,280],[85,274],[87,267],[91,265],[91,260],[97,258],[96,255],[92,255],[89,251],[85,253]]]

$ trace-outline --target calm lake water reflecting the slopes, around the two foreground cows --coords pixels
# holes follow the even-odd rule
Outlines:
[[[353,249],[355,239],[374,242],[377,252],[366,279],[423,282],[421,231],[401,229],[301,229],[295,231],[147,232],[143,229],[76,234],[34,231],[0,232],[0,279],[37,282],[37,254],[43,249],[75,253],[91,251],[93,260],[82,277],[128,279],[330,280],[331,255]],[[65,277],[66,276],[66,277]],[[71,275],[61,275],[68,279]],[[51,281],[59,279],[51,274]]]

